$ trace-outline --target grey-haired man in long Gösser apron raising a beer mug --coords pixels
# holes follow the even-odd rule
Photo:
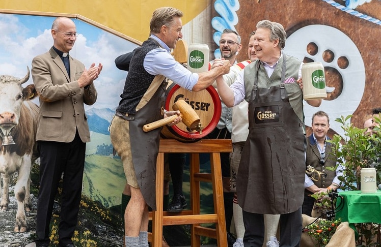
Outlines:
[[[237,199],[242,207],[244,246],[262,246],[263,214],[281,214],[280,243],[299,246],[305,177],[305,129],[302,61],[282,52],[283,26],[257,23],[254,47],[258,60],[246,66],[229,87],[222,76],[217,87],[228,107],[249,102],[249,136],[237,174]],[[308,100],[318,106],[321,100]]]

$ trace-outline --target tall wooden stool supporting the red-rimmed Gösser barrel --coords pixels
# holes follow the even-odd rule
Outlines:
[[[183,143],[175,139],[160,139],[156,165],[156,210],[150,212],[152,233],[148,239],[154,247],[162,246],[162,226],[192,225],[190,243],[200,247],[200,236],[217,239],[218,246],[228,246],[225,224],[224,195],[221,174],[220,152],[231,152],[230,139],[202,139]],[[181,212],[163,211],[164,153],[190,153],[190,210]],[[200,173],[200,153],[210,153],[211,173]],[[211,182],[213,188],[214,213],[200,214],[200,182]],[[215,229],[200,224],[214,223]]]

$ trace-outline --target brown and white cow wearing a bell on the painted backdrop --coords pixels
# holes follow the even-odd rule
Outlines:
[[[9,183],[17,172],[14,189],[17,199],[15,232],[25,232],[27,229],[24,210],[32,209],[30,173],[32,164],[38,158],[36,130],[39,108],[30,101],[37,94],[34,85],[21,86],[29,79],[27,69],[28,73],[22,79],[0,75],[0,175],[4,187],[0,209],[8,209]]]

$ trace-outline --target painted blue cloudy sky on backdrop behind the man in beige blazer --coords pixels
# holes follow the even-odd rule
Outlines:
[[[33,57],[48,51],[53,45],[50,28],[55,18],[0,14],[0,75],[25,76],[26,66],[32,68]],[[92,63],[103,65],[99,78],[94,82],[98,100],[91,107],[113,109],[119,103],[126,78],[126,72],[118,70],[114,60],[137,45],[84,21],[73,21],[79,36],[70,55],[85,67]],[[32,83],[31,76],[26,84]]]

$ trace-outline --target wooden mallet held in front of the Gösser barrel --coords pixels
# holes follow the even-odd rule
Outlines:
[[[186,103],[184,100],[176,101],[173,104],[172,109],[175,111],[180,111],[180,116],[182,118],[182,122],[190,130],[195,130],[195,129],[200,128],[199,127],[200,117],[197,115],[195,110],[188,103]],[[161,126],[168,125],[171,122],[173,122],[176,119],[176,117],[178,117],[178,116],[179,115],[175,114],[173,116],[169,116],[169,117],[151,122],[150,124],[143,126],[143,131],[148,132],[148,131],[157,129]]]

